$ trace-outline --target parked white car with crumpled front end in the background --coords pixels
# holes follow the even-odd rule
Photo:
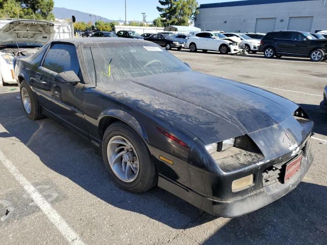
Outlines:
[[[226,37],[219,32],[198,32],[189,37],[186,48],[190,48],[190,52],[197,52],[197,50],[219,51],[221,54],[243,54],[244,52],[240,38]]]

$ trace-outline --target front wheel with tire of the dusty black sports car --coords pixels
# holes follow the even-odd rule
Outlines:
[[[157,172],[143,139],[123,122],[114,122],[104,133],[102,156],[111,178],[134,193],[149,190],[157,183]]]

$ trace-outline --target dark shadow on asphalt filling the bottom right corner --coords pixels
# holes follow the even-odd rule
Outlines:
[[[202,244],[326,244],[327,187],[301,182],[276,202],[232,218]]]

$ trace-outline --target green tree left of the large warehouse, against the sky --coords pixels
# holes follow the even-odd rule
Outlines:
[[[188,26],[198,13],[196,0],[159,0],[157,7],[164,26]]]

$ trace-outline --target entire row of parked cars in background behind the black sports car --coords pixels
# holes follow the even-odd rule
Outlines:
[[[265,33],[224,33],[206,31],[191,34],[173,34],[170,32],[137,34],[134,31],[96,32],[90,37],[123,37],[145,39],[160,46],[171,48],[189,48],[190,52],[218,51],[221,54],[248,54],[263,52],[266,58],[282,56],[310,57],[312,61],[321,61],[327,56],[327,32],[308,33],[301,31],[274,31]]]

